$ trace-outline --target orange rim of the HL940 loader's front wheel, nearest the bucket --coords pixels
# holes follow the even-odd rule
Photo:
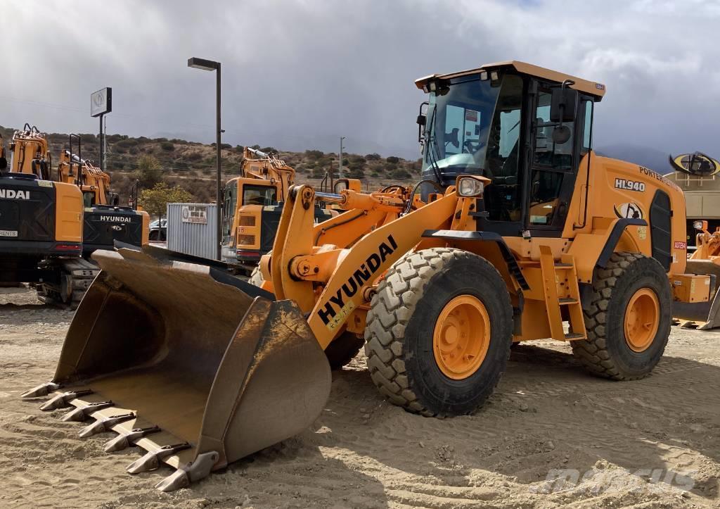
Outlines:
[[[440,371],[450,379],[467,379],[480,368],[489,346],[490,317],[485,304],[471,295],[449,301],[433,330],[433,354]]]

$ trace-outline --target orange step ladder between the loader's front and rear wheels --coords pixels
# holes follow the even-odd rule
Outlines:
[[[575,258],[562,254],[560,262],[552,257],[549,246],[540,246],[540,269],[542,271],[543,293],[547,307],[547,319],[552,339],[559,341],[584,340],[585,319],[580,304],[580,288],[577,286]],[[562,309],[566,306],[570,332],[565,334],[562,327]]]

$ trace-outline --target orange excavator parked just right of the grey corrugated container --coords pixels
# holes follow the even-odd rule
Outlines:
[[[222,260],[256,269],[260,257],[272,249],[282,204],[294,183],[295,170],[275,154],[245,147],[240,177],[225,184],[222,206]],[[330,218],[318,207],[318,221]]]

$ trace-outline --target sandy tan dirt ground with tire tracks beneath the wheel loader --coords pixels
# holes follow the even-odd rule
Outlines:
[[[169,468],[130,476],[138,449],[104,453],[112,434],[78,438],[62,410],[19,399],[52,376],[71,319],[0,294],[2,508],[720,506],[720,332],[673,328],[652,376],[625,383],[567,345],[522,345],[489,404],[446,420],[384,402],[360,355],[311,429],[165,494]]]

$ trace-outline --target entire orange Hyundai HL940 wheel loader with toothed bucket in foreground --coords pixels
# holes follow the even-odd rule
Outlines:
[[[593,153],[603,84],[510,61],[417,85],[423,181],[291,187],[259,286],[152,247],[95,252],[55,376],[23,397],[144,449],[128,471],[167,464],[174,490],[312,424],[348,336],[384,397],[427,416],[480,407],[513,342],[646,376],[672,301],[706,301],[711,278],[685,274],[678,187]],[[316,224],[318,201],[344,212]]]

